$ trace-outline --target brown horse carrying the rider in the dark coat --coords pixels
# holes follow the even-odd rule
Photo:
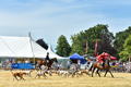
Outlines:
[[[52,65],[53,62],[58,63],[57,58],[53,58],[53,59],[49,60],[49,63],[47,63],[48,70],[51,69],[51,65]],[[38,64],[38,67],[40,69],[41,65],[46,66],[46,61],[40,59],[40,60],[37,61],[37,64]]]

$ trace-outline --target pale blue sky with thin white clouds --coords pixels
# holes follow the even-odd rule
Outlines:
[[[0,0],[0,36],[28,36],[57,46],[97,24],[114,33],[131,25],[131,0]]]

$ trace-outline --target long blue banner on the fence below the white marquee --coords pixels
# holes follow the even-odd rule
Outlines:
[[[12,69],[34,69],[31,63],[12,63]]]

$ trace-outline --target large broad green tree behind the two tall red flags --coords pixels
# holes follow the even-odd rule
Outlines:
[[[85,54],[86,51],[86,39],[88,41],[87,53],[94,55],[95,52],[95,42],[98,39],[98,45],[102,42],[102,35],[106,34],[109,40],[114,40],[114,35],[108,29],[108,25],[98,24],[94,27],[80,32],[76,35],[71,36],[72,40],[72,51],[71,53],[78,52],[79,54]],[[102,52],[102,51],[100,51]],[[99,53],[100,53],[99,52]]]

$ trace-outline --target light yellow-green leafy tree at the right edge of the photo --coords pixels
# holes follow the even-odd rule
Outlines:
[[[131,35],[126,39],[123,50],[119,53],[122,61],[128,61],[131,54]]]

